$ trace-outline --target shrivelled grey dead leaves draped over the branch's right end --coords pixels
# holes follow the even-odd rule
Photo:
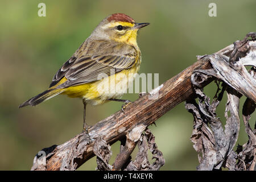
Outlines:
[[[248,40],[249,36],[253,40]],[[197,70],[193,73],[191,79],[199,103],[197,104],[193,98],[185,104],[186,109],[194,117],[191,140],[194,143],[193,147],[199,153],[200,165],[197,167],[198,170],[221,169],[221,167],[230,170],[255,169],[256,130],[253,131],[248,122],[256,107],[255,37],[256,32],[251,32],[242,41],[236,41],[234,50],[229,57],[220,53],[199,57],[200,60],[209,61],[213,68]],[[253,66],[250,72],[247,72],[245,65]],[[217,84],[218,89],[214,97],[216,100],[213,100],[212,104],[210,104],[210,98],[203,93],[203,89],[198,88],[204,79],[211,76],[222,81],[221,93],[218,94],[220,88]],[[198,78],[201,78],[200,82],[198,82]],[[228,96],[225,127],[222,126],[222,122],[220,118],[217,118],[215,112],[224,91],[227,92]],[[243,146],[238,146],[237,155],[233,148],[240,131],[239,105],[242,94],[247,97],[243,105],[243,122],[249,140]],[[237,159],[238,163],[236,162]]]

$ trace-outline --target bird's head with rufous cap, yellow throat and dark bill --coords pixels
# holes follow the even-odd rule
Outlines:
[[[92,36],[137,45],[138,30],[148,24],[150,23],[135,23],[130,16],[117,13],[102,20],[93,31]]]

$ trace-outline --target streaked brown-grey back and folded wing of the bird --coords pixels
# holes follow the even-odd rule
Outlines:
[[[56,73],[50,86],[56,85],[64,76],[67,81],[57,88],[97,81],[100,77],[131,68],[135,63],[137,51],[133,46],[109,40],[98,41],[95,45],[95,42],[85,42],[80,46]]]

